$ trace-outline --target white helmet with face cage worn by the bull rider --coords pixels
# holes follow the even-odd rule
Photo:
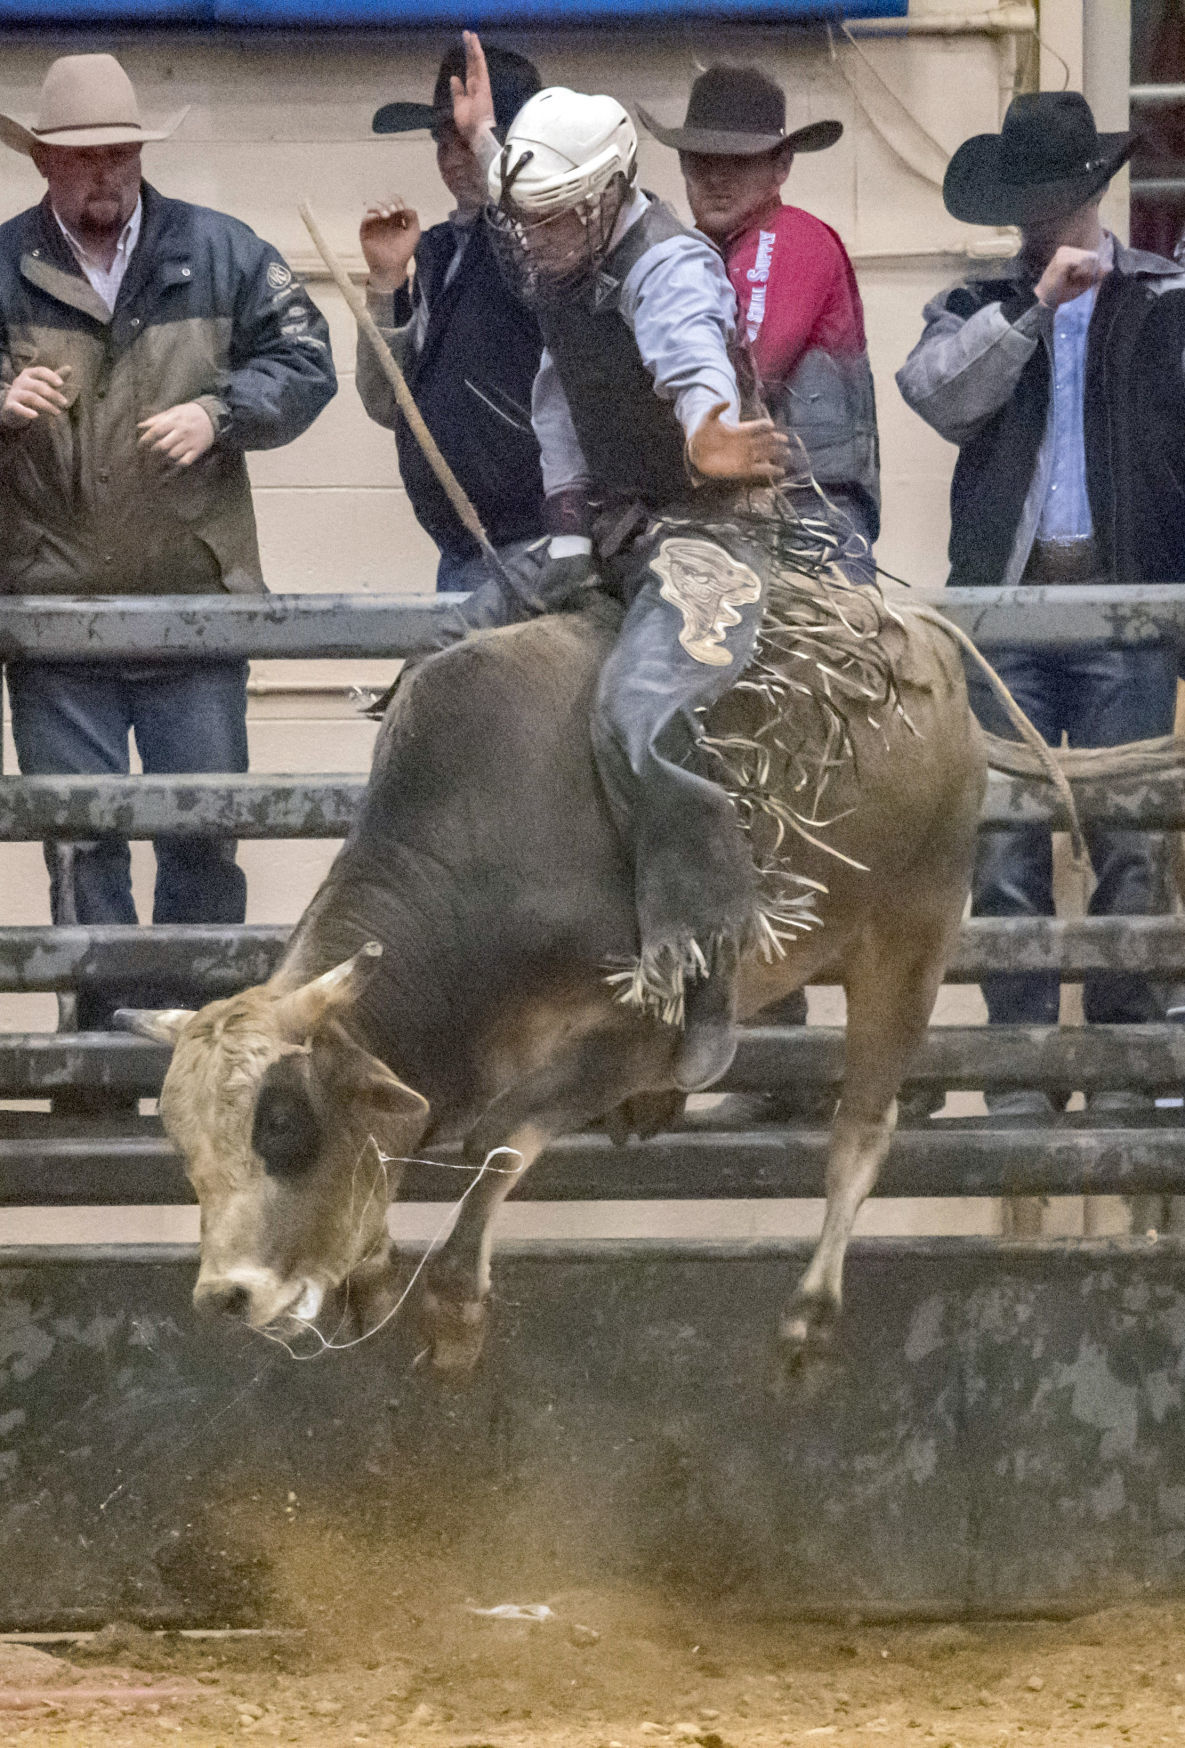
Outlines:
[[[617,98],[565,86],[537,91],[510,122],[489,168],[489,198],[545,218],[594,201],[615,177],[634,178],[638,133]]]

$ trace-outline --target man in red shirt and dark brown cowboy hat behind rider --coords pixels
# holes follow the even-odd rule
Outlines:
[[[755,66],[703,72],[682,128],[641,105],[638,115],[678,152],[692,217],[724,253],[766,402],[839,512],[844,568],[870,582],[881,491],[856,276],[835,231],[781,199],[795,156],[835,145],[842,122],[788,133],[785,93]]]

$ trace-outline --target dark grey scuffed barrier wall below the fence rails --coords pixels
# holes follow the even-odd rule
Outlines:
[[[540,1596],[629,1573],[870,1619],[1180,1592],[1178,1250],[858,1243],[834,1358],[771,1400],[802,1260],[503,1252],[488,1355],[446,1391],[414,1320],[297,1365],[196,1321],[191,1253],[0,1252],[0,1624],[292,1619],[297,1516],[346,1571],[351,1536],[502,1538],[524,1584],[538,1547]]]

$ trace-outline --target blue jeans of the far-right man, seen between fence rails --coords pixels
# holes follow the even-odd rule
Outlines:
[[[1176,652],[1154,649],[984,650],[1017,704],[1050,746],[1063,732],[1071,746],[1119,746],[1171,734],[1176,708]],[[1015,739],[984,675],[968,668],[975,715],[993,734]],[[1162,834],[1085,827],[1096,888],[1091,916],[1150,916],[1168,909],[1168,857]],[[974,916],[1052,916],[1052,837],[1045,827],[981,832],[972,888]],[[993,1024],[1057,1024],[1059,979],[1021,972],[982,982]],[[1094,972],[1085,977],[1085,1017],[1092,1024],[1162,1019],[1147,977]]]

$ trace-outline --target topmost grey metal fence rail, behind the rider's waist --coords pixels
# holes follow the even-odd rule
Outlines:
[[[7,596],[0,661],[398,657],[456,594]],[[984,647],[1150,643],[1185,636],[1185,584],[914,589]]]

